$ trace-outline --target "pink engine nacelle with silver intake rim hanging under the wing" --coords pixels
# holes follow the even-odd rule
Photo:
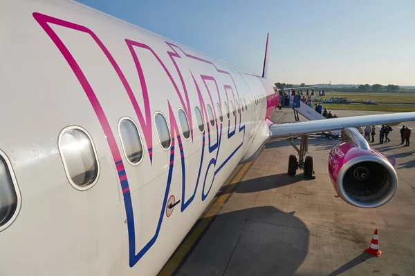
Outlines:
[[[329,154],[329,174],[336,193],[361,208],[376,208],[394,197],[398,186],[394,165],[372,149],[356,128],[342,130],[342,142]]]

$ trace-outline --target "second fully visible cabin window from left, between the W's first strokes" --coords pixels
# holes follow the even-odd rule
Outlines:
[[[120,120],[118,126],[122,149],[131,165],[136,165],[142,160],[142,143],[136,124],[129,118]]]

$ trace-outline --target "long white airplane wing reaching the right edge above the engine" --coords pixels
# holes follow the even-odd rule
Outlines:
[[[316,121],[299,121],[295,123],[270,125],[270,138],[288,138],[322,131],[342,130],[343,128],[363,127],[376,124],[397,124],[415,121],[415,112],[365,115]]]

